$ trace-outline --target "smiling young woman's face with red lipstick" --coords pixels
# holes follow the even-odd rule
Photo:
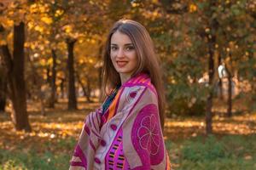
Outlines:
[[[131,38],[116,31],[110,40],[110,56],[113,66],[120,77],[131,77],[137,68],[137,54]]]

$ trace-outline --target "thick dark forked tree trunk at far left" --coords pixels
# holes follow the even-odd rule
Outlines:
[[[25,25],[20,22],[14,29],[14,53],[13,58],[8,45],[2,45],[4,62],[7,65],[7,80],[9,97],[12,101],[12,120],[16,130],[31,131],[26,112],[26,84],[24,79],[24,42]]]

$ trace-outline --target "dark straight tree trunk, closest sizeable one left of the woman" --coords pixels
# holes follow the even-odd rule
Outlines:
[[[68,110],[77,109],[77,98],[75,89],[75,77],[73,67],[73,47],[76,40],[67,39],[67,71],[68,71]]]

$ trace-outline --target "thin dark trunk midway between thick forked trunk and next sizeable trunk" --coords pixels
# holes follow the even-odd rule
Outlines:
[[[56,99],[56,54],[55,50],[51,49],[51,54],[52,54],[52,68],[51,68],[51,92],[50,92],[50,99],[49,99],[49,108],[54,108],[55,107],[55,99]]]

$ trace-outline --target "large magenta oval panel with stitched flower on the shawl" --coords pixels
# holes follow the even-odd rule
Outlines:
[[[132,126],[131,141],[143,162],[143,168],[148,164],[157,165],[165,157],[158,114],[156,105],[146,105],[139,111]]]

